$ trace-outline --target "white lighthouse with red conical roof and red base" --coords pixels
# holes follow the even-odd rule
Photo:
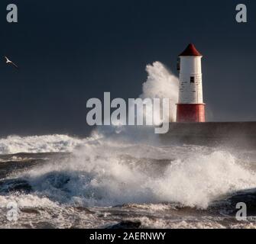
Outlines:
[[[180,53],[177,69],[180,72],[177,122],[206,122],[203,103],[203,82],[201,59],[203,55],[190,43]]]

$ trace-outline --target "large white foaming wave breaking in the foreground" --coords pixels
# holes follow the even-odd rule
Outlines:
[[[164,161],[163,161],[164,160]],[[255,173],[230,152],[202,146],[87,143],[61,162],[23,175],[39,195],[63,204],[114,206],[177,202],[206,208],[256,186]]]

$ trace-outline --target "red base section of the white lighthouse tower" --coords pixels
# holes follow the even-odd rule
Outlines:
[[[206,104],[177,104],[177,122],[206,122]]]

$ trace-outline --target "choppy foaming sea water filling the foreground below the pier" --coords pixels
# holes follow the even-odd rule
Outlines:
[[[0,140],[0,227],[256,227],[254,150],[134,137]],[[244,222],[235,220],[241,201]],[[8,220],[10,203],[17,221]]]

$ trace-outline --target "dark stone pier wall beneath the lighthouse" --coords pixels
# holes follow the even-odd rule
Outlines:
[[[170,123],[160,135],[165,144],[186,143],[207,146],[239,146],[256,149],[256,122]]]

